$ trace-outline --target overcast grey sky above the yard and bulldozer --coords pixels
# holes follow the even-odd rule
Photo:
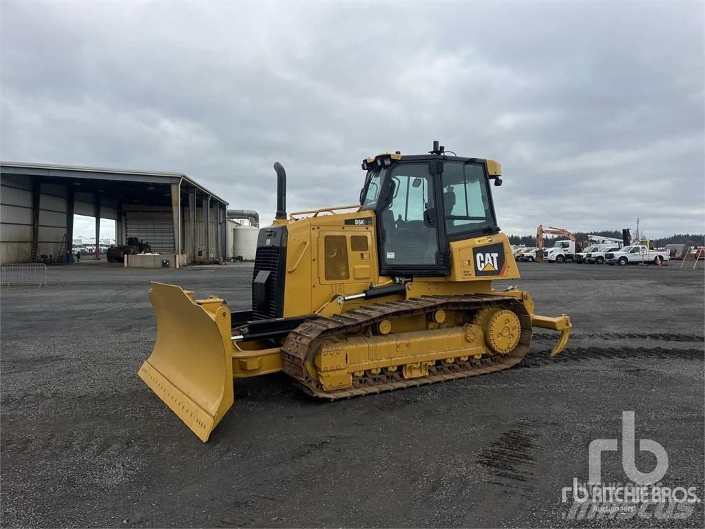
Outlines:
[[[437,138],[502,163],[508,233],[701,232],[703,6],[2,1],[0,158],[183,171],[269,221],[276,160],[290,211],[346,205]]]

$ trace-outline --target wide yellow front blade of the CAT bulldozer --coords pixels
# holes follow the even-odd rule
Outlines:
[[[218,298],[200,302],[180,286],[152,283],[154,351],[140,378],[206,442],[233,406],[230,311]]]

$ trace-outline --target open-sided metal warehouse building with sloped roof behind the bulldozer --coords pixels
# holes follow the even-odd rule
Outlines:
[[[228,203],[183,173],[0,162],[0,191],[3,264],[70,260],[74,214],[95,217],[97,241],[136,237],[171,266],[228,255]]]

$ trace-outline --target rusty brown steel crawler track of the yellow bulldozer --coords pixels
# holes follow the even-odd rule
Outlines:
[[[467,310],[471,313],[477,313],[484,308],[509,309],[518,315],[522,331],[519,344],[510,353],[479,360],[470,358],[466,361],[460,361],[456,359],[450,365],[436,363],[436,365],[429,367],[429,375],[425,377],[405,379],[399,372],[392,374],[382,372],[379,375],[366,374],[356,379],[353,387],[334,391],[324,391],[321,384],[314,380],[307,370],[307,361],[312,361],[314,354],[321,346],[321,341],[326,338],[336,337],[344,340],[346,336],[359,336],[381,320],[424,314],[439,309],[446,311]],[[304,322],[286,337],[281,350],[282,367],[300,389],[312,396],[333,401],[508,369],[519,363],[529,351],[531,336],[531,317],[525,306],[514,298],[508,296],[424,296],[417,299],[365,306],[350,310],[342,315]]]

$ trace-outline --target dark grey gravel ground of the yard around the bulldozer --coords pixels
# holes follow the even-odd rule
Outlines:
[[[679,264],[522,264],[537,312],[574,322],[559,357],[539,329],[511,370],[379,396],[238,381],[207,444],[137,377],[155,334],[147,288],[247,308],[250,265],[51,267],[47,288],[1,293],[1,524],[702,527],[702,504],[682,520],[575,521],[561,501],[587,480],[591,440],[620,439],[623,411],[666,449],[662,484],[704,497],[704,276]],[[603,454],[603,481],[625,481],[621,459]]]

